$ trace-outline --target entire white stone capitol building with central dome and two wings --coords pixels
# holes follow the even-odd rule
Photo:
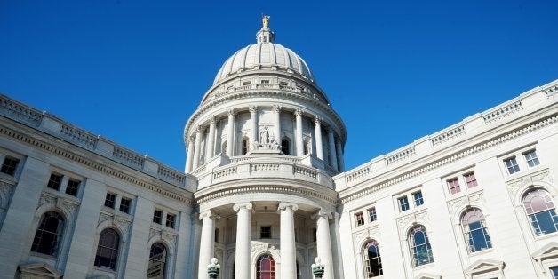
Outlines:
[[[185,170],[0,95],[0,278],[558,278],[558,80],[347,170],[268,19],[200,92]]]

